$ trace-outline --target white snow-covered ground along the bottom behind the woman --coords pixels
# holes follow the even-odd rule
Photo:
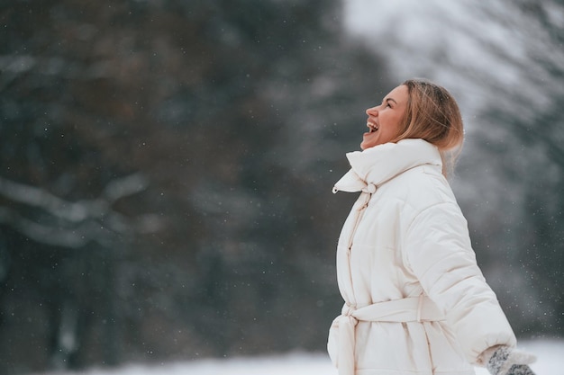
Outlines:
[[[564,340],[526,341],[520,347],[537,355],[531,367],[537,375],[564,375]],[[477,369],[477,375],[486,375]],[[115,369],[51,372],[47,375],[336,375],[325,353],[289,353],[272,356],[207,359],[193,362],[132,364]]]

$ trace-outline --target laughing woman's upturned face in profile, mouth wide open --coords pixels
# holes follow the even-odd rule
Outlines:
[[[400,85],[387,94],[380,105],[366,110],[368,132],[362,136],[361,149],[382,145],[396,138],[407,108],[407,99],[407,86]]]

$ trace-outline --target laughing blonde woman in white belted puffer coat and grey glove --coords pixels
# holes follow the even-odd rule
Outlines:
[[[445,178],[464,135],[457,103],[412,79],[367,114],[362,151],[333,188],[360,192],[337,248],[345,304],[328,350],[339,374],[532,374]]]

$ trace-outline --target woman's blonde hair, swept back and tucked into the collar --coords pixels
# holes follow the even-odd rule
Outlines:
[[[454,170],[464,142],[464,125],[459,105],[442,86],[425,79],[408,79],[408,101],[397,142],[405,138],[422,138],[439,149],[442,174]]]

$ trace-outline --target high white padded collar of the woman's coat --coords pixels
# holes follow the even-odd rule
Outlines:
[[[437,147],[423,139],[403,139],[347,153],[351,169],[333,192],[375,192],[376,187],[419,165],[442,165]]]

